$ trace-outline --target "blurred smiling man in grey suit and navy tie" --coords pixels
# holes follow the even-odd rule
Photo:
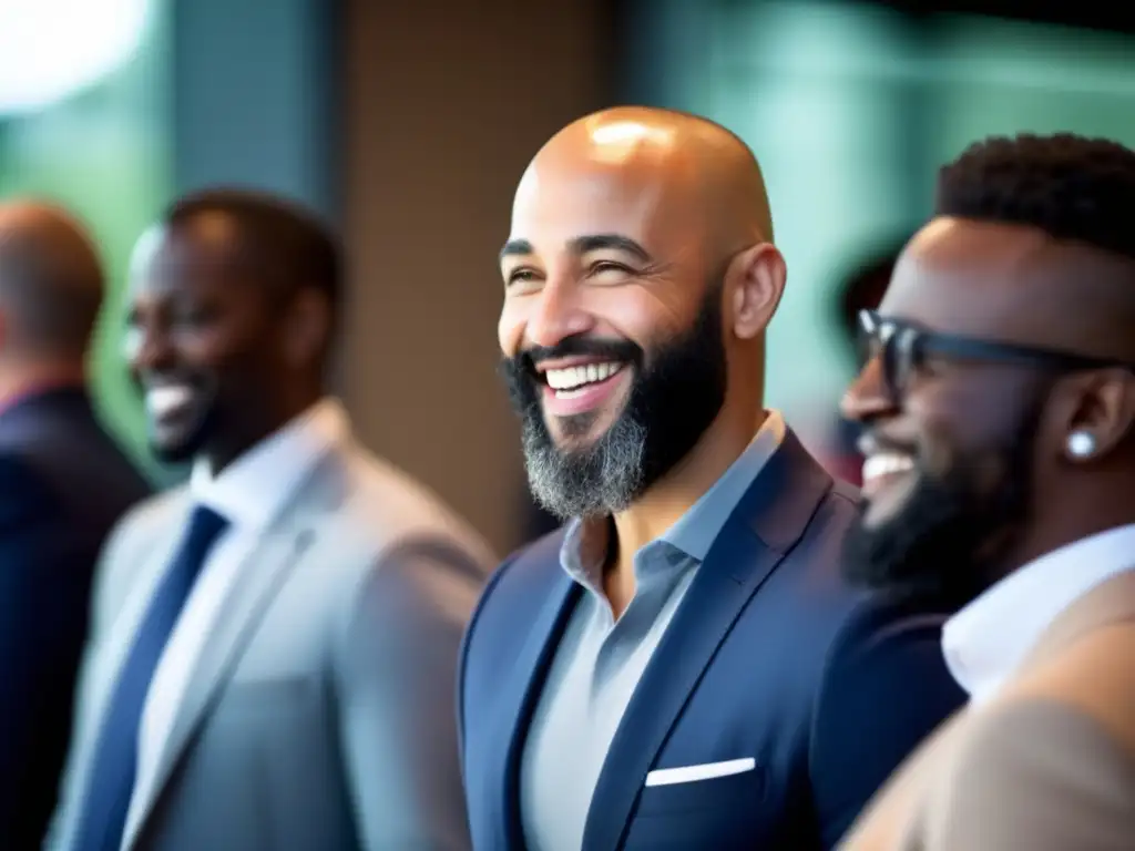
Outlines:
[[[491,555],[326,395],[339,278],[250,192],[140,242],[132,371],[193,475],[103,554],[50,848],[469,846],[453,682]]]

